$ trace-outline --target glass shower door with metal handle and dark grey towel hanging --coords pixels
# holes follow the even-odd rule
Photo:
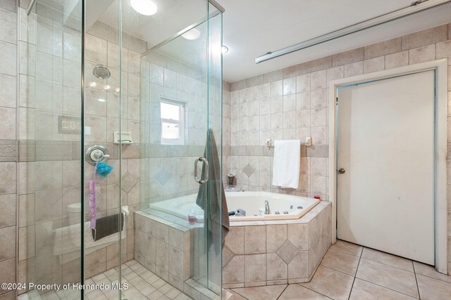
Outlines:
[[[137,231],[155,252],[137,242],[137,261],[193,299],[221,294],[222,16],[205,13],[142,56],[141,209],[156,233]]]

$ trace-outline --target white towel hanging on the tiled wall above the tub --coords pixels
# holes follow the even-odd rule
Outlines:
[[[301,141],[274,141],[273,185],[297,188],[301,164]]]

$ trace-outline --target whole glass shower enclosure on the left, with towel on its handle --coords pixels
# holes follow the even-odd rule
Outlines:
[[[20,0],[20,297],[221,299],[222,13]]]

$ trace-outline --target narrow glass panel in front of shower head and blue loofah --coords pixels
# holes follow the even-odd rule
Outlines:
[[[129,73],[135,60],[128,58],[128,48],[121,47],[121,2],[85,1],[85,5],[85,151],[99,146],[109,155],[94,155],[95,162],[104,160],[106,164],[97,164],[97,168],[95,162],[93,165],[85,160],[85,226],[89,228],[85,236],[85,282],[119,285],[87,289],[86,296],[121,299],[121,265],[128,261],[128,244],[133,237],[128,234],[130,215],[123,214],[123,209],[136,178],[124,168],[123,146],[114,143],[130,137],[114,133],[128,128],[129,86],[139,80]],[[109,172],[108,166],[112,167]]]

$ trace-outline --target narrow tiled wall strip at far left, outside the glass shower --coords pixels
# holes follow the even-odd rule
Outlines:
[[[16,138],[17,8],[16,1],[0,1],[0,282],[16,282],[18,224],[18,145]],[[1,299],[16,292],[0,288]]]

